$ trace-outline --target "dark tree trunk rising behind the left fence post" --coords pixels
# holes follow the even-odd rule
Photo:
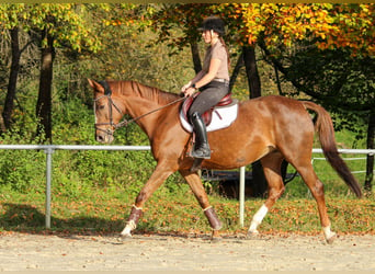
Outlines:
[[[47,30],[42,32],[42,41],[47,38],[47,46],[42,48],[39,92],[36,103],[38,118],[37,136],[52,142],[52,80],[55,58],[54,38]]]

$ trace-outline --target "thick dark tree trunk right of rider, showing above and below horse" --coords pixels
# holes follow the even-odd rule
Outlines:
[[[251,46],[245,46],[242,48],[243,52],[243,61],[246,73],[248,76],[248,83],[250,89],[250,99],[259,98],[262,95],[261,93],[261,82],[257,67],[255,59],[255,48]],[[252,180],[254,182],[253,193],[255,196],[264,196],[268,190],[268,183],[264,176],[263,167],[260,161],[255,161],[252,163]]]

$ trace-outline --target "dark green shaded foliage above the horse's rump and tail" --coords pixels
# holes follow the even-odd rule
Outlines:
[[[343,49],[302,47],[288,59],[286,79],[297,82],[299,91],[332,114],[337,130],[350,129],[357,139],[365,138],[375,106],[374,58],[352,57]]]

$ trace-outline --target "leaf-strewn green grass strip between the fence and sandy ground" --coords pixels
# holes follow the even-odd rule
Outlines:
[[[355,147],[352,146],[353,140],[348,138],[348,134],[339,134],[339,145]],[[32,160],[33,167],[35,165],[43,174],[30,175],[25,179],[23,174],[35,174],[35,169],[27,170],[29,165],[22,161],[16,167],[14,162],[3,164],[3,167],[12,167],[12,170],[3,170],[3,172],[15,175],[10,178],[13,181],[7,179],[0,182],[0,232],[117,233],[123,229],[134,199],[154,165],[152,160],[147,158],[149,157],[147,152],[140,156],[143,162],[147,164],[143,164],[139,169],[140,163],[134,159],[133,153],[124,157],[123,153],[118,156],[115,152],[109,155],[77,152],[76,160],[72,161],[71,152],[59,151],[54,159],[52,228],[46,230],[44,157],[36,152],[21,155],[19,151],[12,151],[7,157],[10,161]],[[116,159],[114,162],[120,165],[112,167],[113,162],[109,159],[113,158],[110,157],[114,157]],[[117,161],[118,157],[121,161]],[[314,157],[322,156],[314,155]],[[350,155],[342,157],[353,158]],[[92,170],[90,164],[84,165],[87,159],[90,160],[89,163],[104,159],[103,163],[99,161],[103,165],[102,169],[95,169],[99,173],[87,172]],[[352,171],[365,170],[365,160],[346,161],[346,163]],[[73,169],[70,165],[73,165]],[[126,172],[123,167],[126,167]],[[326,161],[316,160],[314,167],[325,184],[332,229],[341,233],[375,233],[375,190],[372,195],[356,199]],[[14,172],[18,169],[20,172]],[[86,171],[83,175],[79,173],[82,170]],[[116,170],[120,171],[118,174],[114,173]],[[288,172],[293,171],[293,168],[289,168]],[[124,174],[132,174],[132,176]],[[87,180],[81,180],[82,176]],[[355,173],[355,178],[363,184],[364,173]],[[178,176],[172,176],[151,196],[146,203],[136,232],[211,232],[208,221],[198,203],[189,186],[180,181]],[[114,182],[122,182],[122,184],[117,185]],[[180,183],[175,184],[175,182]],[[264,202],[260,198],[246,201],[246,220],[245,227],[241,227],[238,201],[220,197],[215,193],[209,196],[209,199],[224,224],[221,231],[229,235],[246,233],[251,217]],[[321,233],[316,202],[300,178],[286,185],[285,194],[266,215],[260,231],[262,233]]]

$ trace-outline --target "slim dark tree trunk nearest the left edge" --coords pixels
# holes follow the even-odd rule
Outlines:
[[[14,27],[10,31],[11,34],[11,47],[12,47],[12,65],[9,76],[9,83],[8,83],[8,92],[4,103],[4,109],[2,112],[3,124],[5,128],[2,130],[7,130],[11,127],[12,124],[12,113],[14,107],[14,99],[15,99],[15,91],[16,91],[16,80],[20,71],[20,58],[21,58],[21,50],[20,50],[20,43],[19,43],[19,28]]]

